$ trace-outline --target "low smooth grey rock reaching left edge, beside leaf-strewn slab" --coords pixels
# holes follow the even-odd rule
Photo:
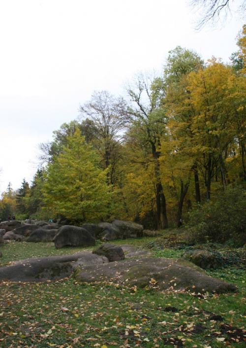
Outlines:
[[[14,265],[0,268],[0,280],[44,281],[69,277],[78,266],[105,263],[103,256],[91,252],[78,252],[72,255],[31,258],[15,262]]]

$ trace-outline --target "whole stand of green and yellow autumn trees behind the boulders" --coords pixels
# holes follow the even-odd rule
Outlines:
[[[137,74],[120,97],[95,91],[78,119],[40,144],[31,183],[24,179],[17,191],[9,183],[1,220],[52,217],[79,225],[120,218],[190,230],[193,223],[201,239],[220,221],[223,231],[230,224],[242,233],[246,26],[237,44],[230,64],[204,62],[178,46],[161,76]]]

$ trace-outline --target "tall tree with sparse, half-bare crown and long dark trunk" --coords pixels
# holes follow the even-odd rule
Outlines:
[[[160,109],[163,89],[159,78],[139,74],[127,89],[130,103],[126,110],[128,123],[136,130],[135,138],[140,151],[148,151],[147,162],[153,168],[152,194],[155,196],[156,226],[168,227],[166,197],[160,173],[160,139],[165,133],[165,110]],[[146,164],[144,164],[146,166]]]

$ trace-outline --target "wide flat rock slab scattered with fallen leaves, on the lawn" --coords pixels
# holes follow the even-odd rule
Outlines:
[[[150,285],[151,279],[154,279],[160,290],[191,290],[200,293],[224,293],[237,289],[233,284],[181,265],[179,260],[154,257],[85,266],[76,270],[75,277],[88,283],[113,281],[139,287]]]

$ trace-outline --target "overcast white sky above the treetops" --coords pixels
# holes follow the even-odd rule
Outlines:
[[[186,0],[0,0],[0,192],[31,181],[38,143],[77,118],[93,90],[123,93],[177,45],[228,61],[242,16],[200,32],[196,16]]]

